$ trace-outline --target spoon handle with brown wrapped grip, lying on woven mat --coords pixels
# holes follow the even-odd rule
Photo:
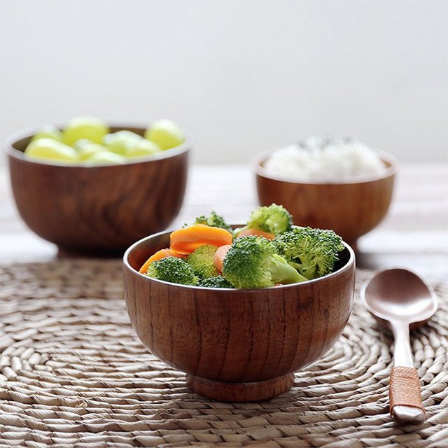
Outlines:
[[[391,416],[400,423],[422,423],[425,420],[425,409],[421,403],[419,373],[412,360],[409,325],[393,325],[393,334],[395,367],[392,369],[389,383]]]

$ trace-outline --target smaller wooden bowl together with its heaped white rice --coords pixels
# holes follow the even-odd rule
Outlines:
[[[282,204],[295,225],[335,230],[353,246],[386,216],[397,166],[349,137],[311,137],[253,160],[261,205]]]

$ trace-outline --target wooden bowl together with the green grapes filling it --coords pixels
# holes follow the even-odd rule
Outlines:
[[[15,204],[59,249],[123,255],[179,214],[191,146],[170,120],[134,127],[78,117],[25,130],[6,142]]]

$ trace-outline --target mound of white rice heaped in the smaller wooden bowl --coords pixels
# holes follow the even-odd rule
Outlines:
[[[325,181],[377,174],[385,169],[376,151],[348,137],[310,137],[274,151],[264,167],[276,174]]]

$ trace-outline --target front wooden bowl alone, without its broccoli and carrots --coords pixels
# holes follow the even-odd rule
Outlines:
[[[264,289],[183,286],[139,274],[169,246],[169,232],[141,239],[124,259],[132,326],[158,358],[187,374],[187,386],[223,401],[265,400],[293,386],[293,372],[336,342],[353,302],[355,256],[345,244],[336,271]]]

